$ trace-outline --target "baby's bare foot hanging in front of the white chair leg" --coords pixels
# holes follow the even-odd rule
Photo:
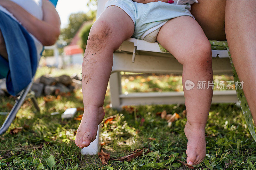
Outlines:
[[[84,115],[76,132],[76,146],[83,149],[95,140],[98,125],[104,119],[104,115],[105,112],[103,106],[84,107]]]

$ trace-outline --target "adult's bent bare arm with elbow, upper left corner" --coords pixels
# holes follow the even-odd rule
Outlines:
[[[10,11],[44,46],[53,45],[58,40],[60,17],[51,2],[43,0],[43,20],[37,19],[10,0],[0,0],[0,5]]]

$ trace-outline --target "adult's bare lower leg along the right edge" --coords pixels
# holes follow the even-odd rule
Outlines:
[[[256,1],[227,0],[225,28],[230,54],[256,123]]]

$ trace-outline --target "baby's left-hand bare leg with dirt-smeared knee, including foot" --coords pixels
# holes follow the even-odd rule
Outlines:
[[[119,7],[108,7],[93,24],[82,65],[84,115],[76,145],[89,146],[104,118],[104,98],[113,64],[113,51],[134,32],[132,19]]]

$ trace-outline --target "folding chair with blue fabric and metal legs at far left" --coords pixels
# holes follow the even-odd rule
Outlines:
[[[58,0],[50,0],[54,6],[57,5]],[[0,78],[5,78],[8,73],[8,62],[0,56]],[[15,118],[17,112],[19,111],[21,105],[23,104],[24,100],[31,99],[32,103],[34,104],[36,110],[40,112],[40,108],[37,104],[37,100],[35,97],[35,92],[31,91],[30,88],[33,85],[34,77],[31,79],[29,85],[20,92],[12,110],[10,111],[9,115],[6,117],[2,127],[0,128],[0,135],[3,134],[9,126],[12,124],[13,119]]]

